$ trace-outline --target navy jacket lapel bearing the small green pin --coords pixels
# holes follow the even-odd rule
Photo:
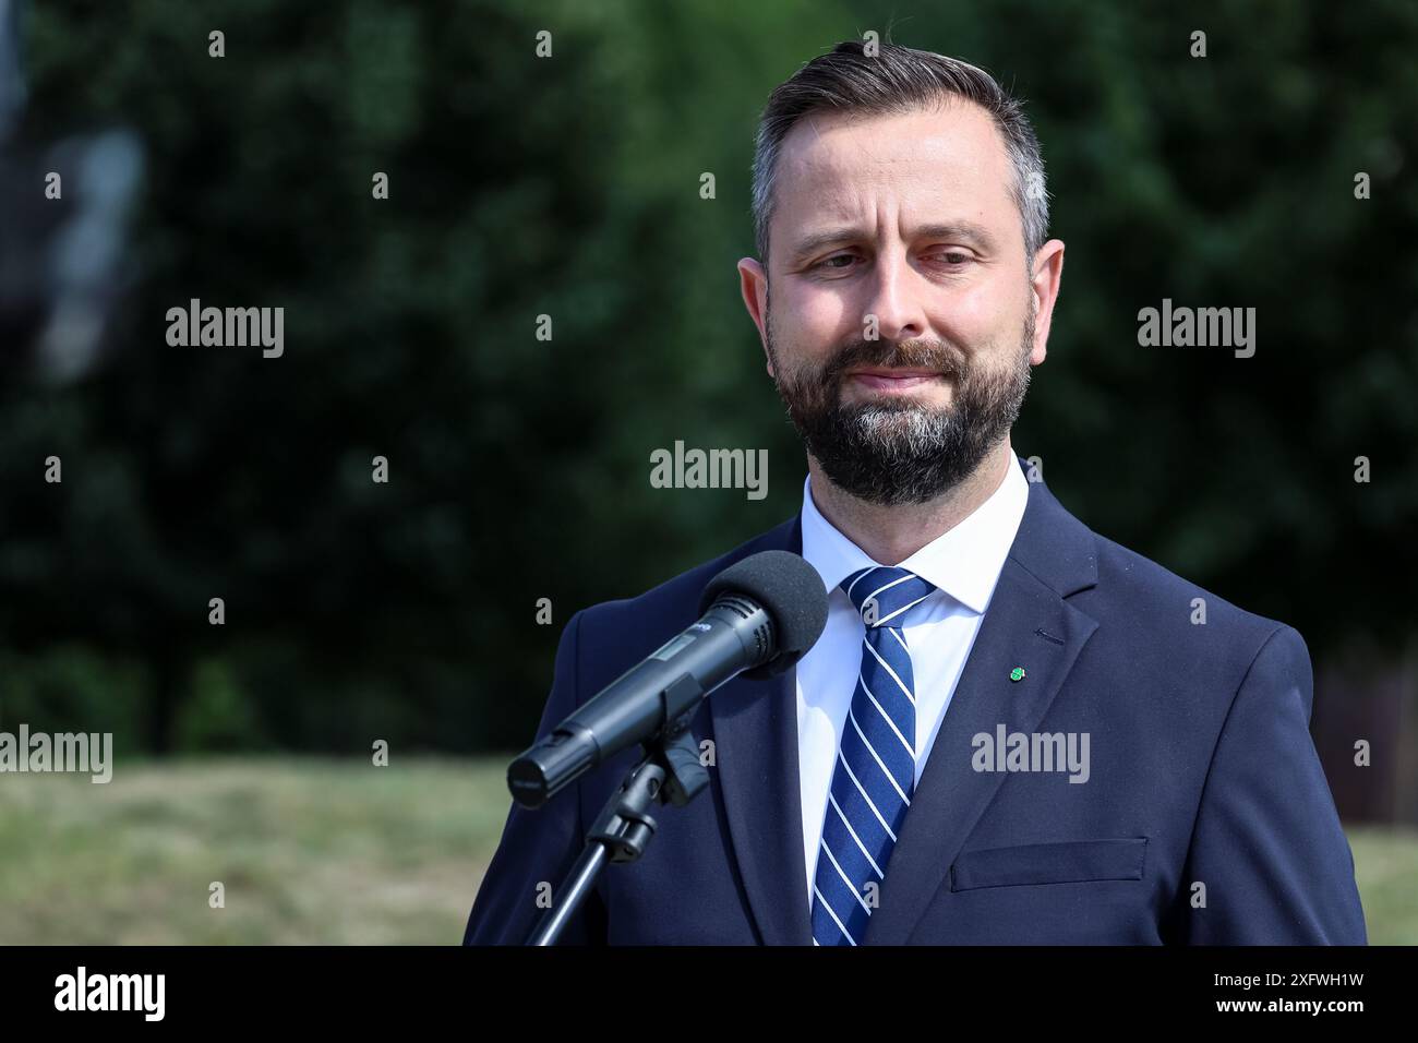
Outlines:
[[[1098,629],[1065,599],[1096,579],[1092,532],[1042,482],[1031,482],[1024,519],[912,796],[864,944],[905,944],[946,881],[1004,780],[1003,772],[974,771],[973,738],[983,732],[993,742],[1001,724],[1007,734],[1038,731]],[[1017,666],[1024,678],[1012,681]]]

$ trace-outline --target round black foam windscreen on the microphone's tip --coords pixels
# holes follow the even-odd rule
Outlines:
[[[720,595],[740,593],[752,597],[773,619],[778,673],[797,663],[822,636],[827,626],[827,587],[822,576],[801,555],[791,551],[760,551],[720,572],[705,587],[700,612]]]

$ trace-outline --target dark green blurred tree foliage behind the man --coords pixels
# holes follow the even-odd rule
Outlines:
[[[1017,448],[1317,657],[1397,647],[1411,3],[45,3],[28,139],[129,126],[149,179],[106,363],[0,390],[0,724],[129,752],[523,744],[573,612],[797,509],[735,272],[753,132],[801,62],[888,24],[995,72],[1044,143],[1068,261]],[[169,348],[190,298],[284,307],[285,356]],[[1256,308],[1255,358],[1139,348],[1163,298]],[[681,438],[767,448],[769,497],[649,488]]]

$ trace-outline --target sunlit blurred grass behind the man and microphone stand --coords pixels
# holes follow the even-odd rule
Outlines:
[[[0,944],[457,944],[510,805],[508,759],[3,775]],[[1418,832],[1347,832],[1370,942],[1418,944]]]

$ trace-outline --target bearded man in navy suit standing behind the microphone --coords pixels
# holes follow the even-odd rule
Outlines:
[[[746,555],[815,566],[827,629],[705,701],[710,788],[563,941],[1364,944],[1300,636],[1093,534],[1014,456],[1064,268],[1018,102],[841,44],[774,91],[753,202],[742,289],[801,514],[579,612],[539,736]],[[513,807],[465,941],[526,939],[637,756]]]

